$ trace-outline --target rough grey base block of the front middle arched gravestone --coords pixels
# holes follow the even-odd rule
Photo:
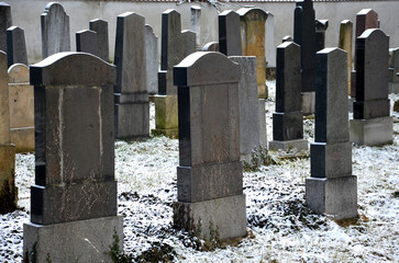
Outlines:
[[[196,203],[174,203],[174,225],[204,240],[246,235],[245,195]]]

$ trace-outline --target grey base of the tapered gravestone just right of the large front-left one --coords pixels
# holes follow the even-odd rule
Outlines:
[[[149,137],[148,100],[115,105],[117,117],[118,128],[115,128],[115,138],[130,139]]]

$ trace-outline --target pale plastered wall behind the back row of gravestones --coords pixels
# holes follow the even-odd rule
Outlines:
[[[7,1],[7,0],[5,0]],[[29,62],[34,64],[42,58],[41,47],[41,14],[48,0],[9,0],[13,24],[25,31]],[[182,30],[190,28],[190,7],[201,7],[201,43],[218,41],[218,10],[209,3],[181,3],[176,2],[128,2],[128,1],[96,1],[96,0],[68,0],[60,2],[70,21],[71,50],[76,50],[75,33],[89,28],[89,20],[103,19],[109,22],[110,56],[113,60],[115,42],[117,15],[124,12],[137,12],[145,16],[146,23],[152,25],[158,36],[160,48],[160,18],[167,9],[176,9],[181,14]],[[220,11],[237,10],[248,3],[225,2],[220,5]],[[275,46],[279,45],[286,35],[293,35],[295,2],[251,2],[269,11],[275,15]],[[352,1],[352,2],[315,2],[315,18],[328,19],[325,46],[337,46],[340,23],[348,19],[355,24],[356,13],[365,8],[370,8],[378,13],[381,30],[390,35],[390,47],[399,46],[399,1]],[[355,25],[354,25],[355,28]],[[159,53],[160,54],[160,53]],[[269,59],[267,59],[269,60]]]

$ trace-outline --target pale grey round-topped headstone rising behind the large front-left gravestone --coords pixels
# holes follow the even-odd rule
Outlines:
[[[60,52],[70,50],[69,15],[63,5],[51,2],[41,15],[43,59]]]

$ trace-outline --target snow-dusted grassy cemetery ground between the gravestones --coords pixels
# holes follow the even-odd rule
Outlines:
[[[274,98],[275,82],[267,84]],[[392,105],[399,94],[390,94],[389,99]],[[266,102],[268,140],[271,140],[274,106],[274,99]],[[248,235],[229,242],[218,240],[217,229],[213,240],[206,242],[173,228],[178,140],[153,137],[115,141],[118,214],[124,217],[125,235],[121,260],[399,262],[399,114],[392,111],[391,114],[392,145],[352,149],[353,174],[358,179],[358,219],[334,221],[306,207],[309,151],[270,151],[264,158],[267,165],[246,165]],[[154,128],[153,104],[151,117]],[[310,142],[313,125],[314,118],[304,119],[304,138]],[[29,221],[30,186],[34,183],[33,153],[16,155],[15,183],[20,209],[0,216],[0,262],[22,260],[22,225]]]

